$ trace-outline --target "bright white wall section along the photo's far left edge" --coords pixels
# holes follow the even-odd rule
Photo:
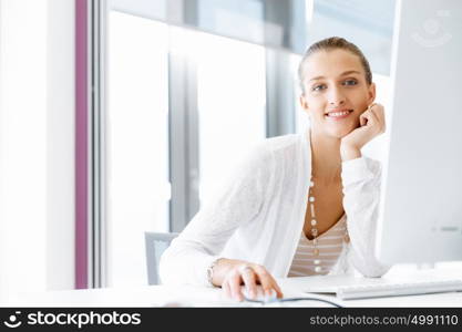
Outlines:
[[[4,292],[44,289],[44,0],[1,0],[0,274]]]

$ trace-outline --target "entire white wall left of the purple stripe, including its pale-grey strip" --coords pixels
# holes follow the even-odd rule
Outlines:
[[[0,303],[74,286],[73,0],[0,0]]]

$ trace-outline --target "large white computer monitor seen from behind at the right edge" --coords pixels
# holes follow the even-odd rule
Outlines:
[[[398,1],[393,38],[376,256],[462,260],[462,1]]]

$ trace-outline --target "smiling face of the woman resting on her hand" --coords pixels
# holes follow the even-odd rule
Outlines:
[[[376,98],[357,55],[345,50],[318,51],[305,62],[300,96],[316,132],[341,138],[359,127],[359,116]]]

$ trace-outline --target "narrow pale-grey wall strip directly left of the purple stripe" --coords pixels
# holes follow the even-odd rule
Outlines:
[[[47,289],[74,288],[74,0],[48,0]]]

